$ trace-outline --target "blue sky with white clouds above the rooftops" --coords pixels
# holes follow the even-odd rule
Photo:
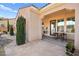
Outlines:
[[[42,8],[48,3],[0,3],[0,17],[15,18],[19,8],[34,5],[37,8]]]

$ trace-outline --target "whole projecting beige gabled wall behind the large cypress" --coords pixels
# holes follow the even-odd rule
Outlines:
[[[27,8],[21,8],[17,14],[23,16],[26,19],[26,41],[33,41],[42,39],[41,35],[41,19],[39,16],[38,10],[30,6]],[[16,18],[16,20],[17,20]]]

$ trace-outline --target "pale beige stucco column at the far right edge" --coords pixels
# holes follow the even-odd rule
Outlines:
[[[75,9],[75,48],[79,49],[79,7]]]

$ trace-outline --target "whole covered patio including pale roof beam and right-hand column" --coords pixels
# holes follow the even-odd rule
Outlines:
[[[65,33],[67,39],[74,40],[79,50],[79,4],[50,4],[41,13],[43,34],[51,37],[54,33]]]

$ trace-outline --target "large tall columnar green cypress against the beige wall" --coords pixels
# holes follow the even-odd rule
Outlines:
[[[17,27],[17,32],[16,32],[16,43],[17,45],[22,45],[25,43],[25,24],[26,24],[26,19],[22,16],[18,17],[16,27]]]

